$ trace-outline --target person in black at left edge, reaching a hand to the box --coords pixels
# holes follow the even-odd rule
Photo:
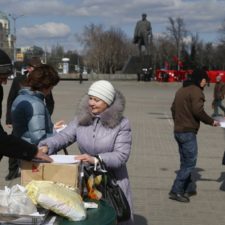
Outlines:
[[[3,99],[2,84],[7,83],[7,78],[12,74],[12,64],[9,56],[0,49],[0,100]],[[2,114],[2,101],[0,101],[0,115]],[[18,159],[31,160],[39,158],[51,162],[42,149],[32,145],[13,135],[8,135],[0,123],[0,159],[3,156],[14,157]]]

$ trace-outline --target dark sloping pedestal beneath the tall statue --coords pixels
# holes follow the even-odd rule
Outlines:
[[[137,74],[140,73],[143,68],[150,67],[152,67],[150,55],[130,56],[122,69],[122,73]]]

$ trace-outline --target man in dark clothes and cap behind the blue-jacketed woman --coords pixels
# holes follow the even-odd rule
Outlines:
[[[12,127],[11,107],[12,107],[13,101],[17,97],[19,90],[23,86],[23,83],[26,80],[27,76],[29,76],[29,74],[35,68],[37,68],[41,65],[42,65],[41,59],[39,57],[34,56],[28,61],[27,71],[26,71],[25,75],[18,75],[13,79],[11,88],[9,90],[8,99],[7,99],[6,125],[8,127],[10,127],[10,128]],[[47,107],[50,115],[52,115],[53,110],[54,110],[54,99],[52,96],[52,92],[45,97],[45,103],[46,103],[46,107]],[[11,180],[11,179],[18,177],[20,175],[19,160],[14,159],[14,158],[9,158],[8,164],[9,164],[9,173],[5,177],[5,179]]]

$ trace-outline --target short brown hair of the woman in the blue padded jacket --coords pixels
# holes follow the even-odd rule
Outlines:
[[[42,64],[29,74],[25,85],[31,87],[33,91],[40,91],[57,85],[59,80],[58,72],[52,66]]]

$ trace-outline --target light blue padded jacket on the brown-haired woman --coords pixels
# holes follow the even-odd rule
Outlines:
[[[32,144],[53,133],[53,123],[44,103],[44,94],[23,88],[11,109],[13,134]]]

